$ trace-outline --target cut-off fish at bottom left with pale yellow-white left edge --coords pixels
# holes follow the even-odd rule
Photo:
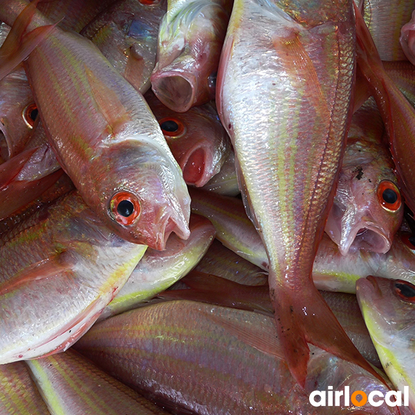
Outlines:
[[[167,415],[73,349],[26,365],[53,414]]]

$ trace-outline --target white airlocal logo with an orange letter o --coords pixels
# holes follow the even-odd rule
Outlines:
[[[354,391],[350,395],[350,387],[345,386],[344,391],[333,391],[333,387],[329,386],[328,391],[313,391],[310,394],[309,400],[311,405],[314,407],[318,406],[350,406],[355,405],[361,407],[367,402],[369,405],[374,407],[379,407],[382,403],[386,405],[395,407],[395,406],[409,406],[409,387],[403,387],[402,391],[389,391],[386,394],[383,394],[380,391],[371,391],[366,394],[364,391]],[[340,398],[344,397],[342,403],[340,403]],[[403,396],[403,404],[402,404]],[[316,398],[318,400],[316,400]],[[320,399],[319,399],[320,398]]]

